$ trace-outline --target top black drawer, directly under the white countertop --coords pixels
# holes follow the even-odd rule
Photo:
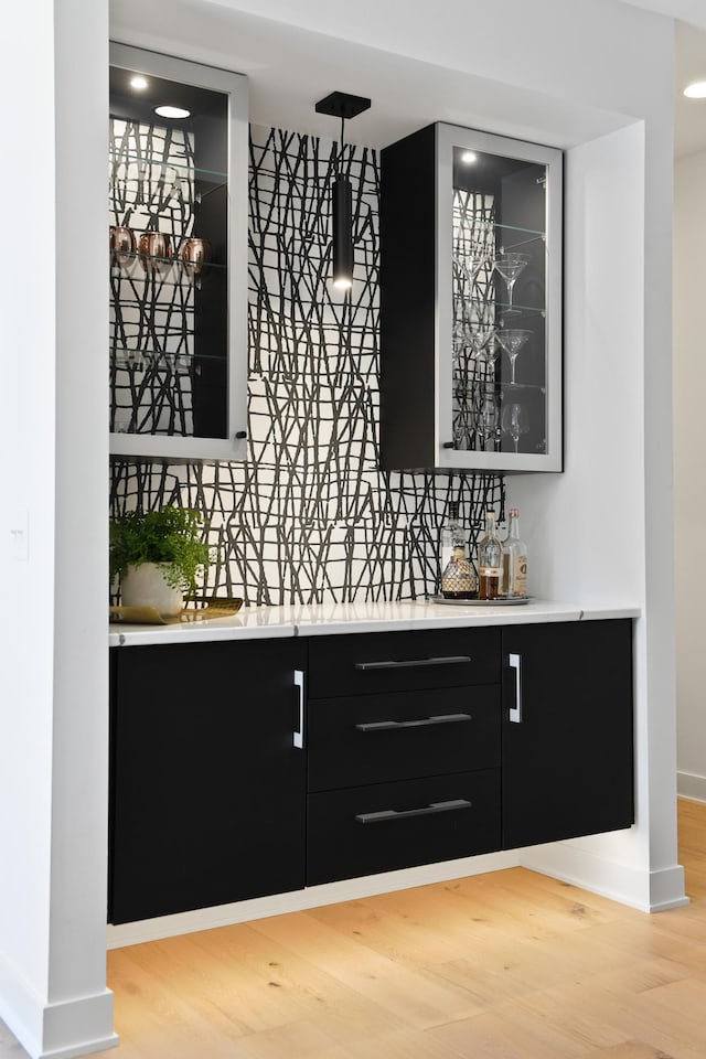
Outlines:
[[[499,628],[312,637],[309,643],[310,698],[499,681]]]

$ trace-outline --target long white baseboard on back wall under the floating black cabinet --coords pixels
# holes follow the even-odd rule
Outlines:
[[[490,853],[480,857],[463,857],[459,860],[443,860],[440,864],[425,864],[417,868],[400,871],[385,871],[382,875],[368,875],[360,879],[344,879],[341,882],[327,882],[323,886],[309,886],[290,894],[275,894],[271,897],[257,897],[234,905],[218,905],[215,908],[200,908],[193,912],[180,912],[176,916],[161,916],[159,919],[143,919],[136,923],[108,926],[108,949],[121,949],[137,945],[143,941],[157,941],[174,934],[190,934],[197,930],[212,930],[214,927],[231,927],[253,919],[268,916],[281,916],[285,912],[299,912],[322,905],[336,905],[374,894],[389,894],[413,886],[426,886],[429,882],[446,882],[469,875],[483,875],[486,871],[500,871],[518,865],[515,849],[504,853]]]

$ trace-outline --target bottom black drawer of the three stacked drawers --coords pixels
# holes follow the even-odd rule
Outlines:
[[[308,886],[499,848],[499,769],[308,799]]]

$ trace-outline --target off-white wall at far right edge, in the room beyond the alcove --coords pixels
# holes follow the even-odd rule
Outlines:
[[[706,526],[706,151],[678,159],[674,176],[674,501],[677,785],[706,801],[706,684],[699,550]]]

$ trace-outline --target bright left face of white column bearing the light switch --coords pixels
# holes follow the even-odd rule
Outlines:
[[[0,201],[8,248],[0,255],[2,1017],[9,1014],[8,997],[11,1005],[20,982],[32,983],[39,993],[46,988],[54,624],[52,0],[19,8],[13,23],[13,32],[0,34],[0,84],[7,101]],[[34,75],[26,78],[30,47]],[[25,561],[13,558],[12,531],[28,520]]]

